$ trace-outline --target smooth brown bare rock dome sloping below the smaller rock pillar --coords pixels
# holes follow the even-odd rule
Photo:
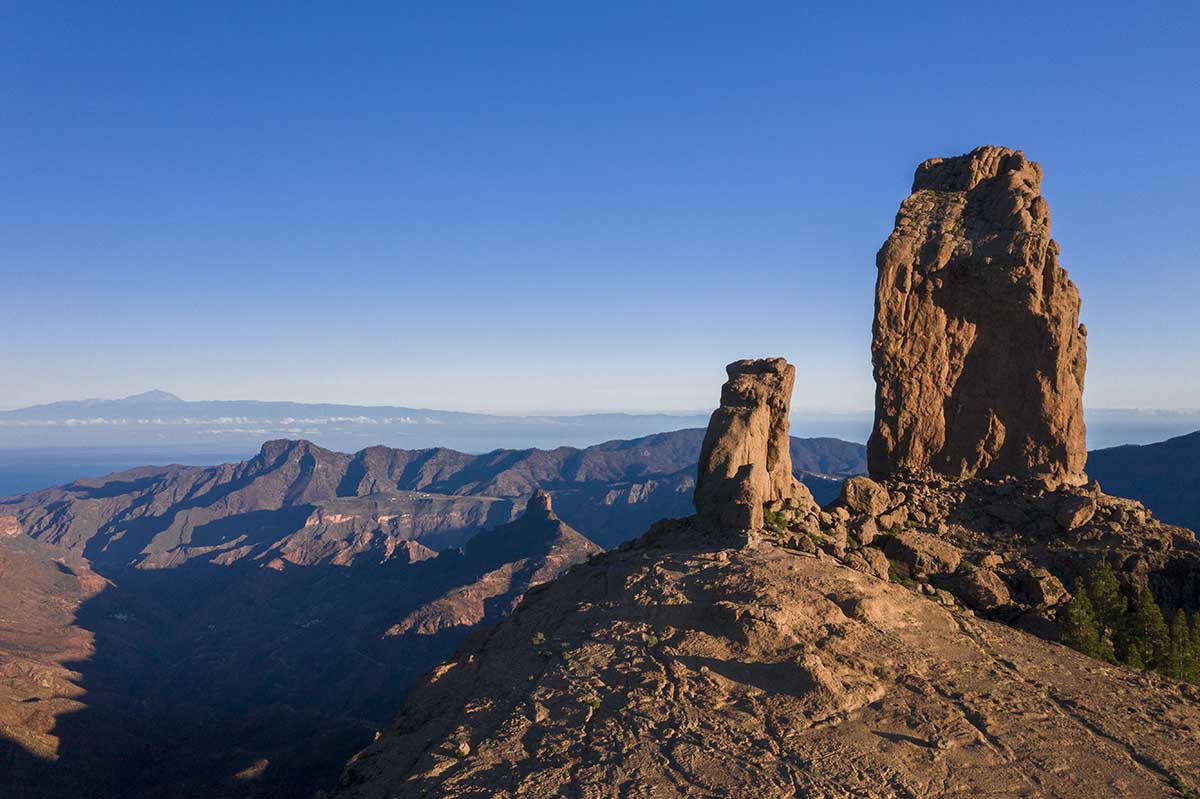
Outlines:
[[[337,797],[1186,797],[1200,691],[665,522],[432,672]]]

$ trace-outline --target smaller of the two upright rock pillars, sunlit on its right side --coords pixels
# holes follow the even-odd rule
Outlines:
[[[725,371],[721,407],[700,451],[696,511],[722,528],[760,528],[764,503],[808,495],[792,475],[788,438],[796,368],[767,358],[734,361]]]

